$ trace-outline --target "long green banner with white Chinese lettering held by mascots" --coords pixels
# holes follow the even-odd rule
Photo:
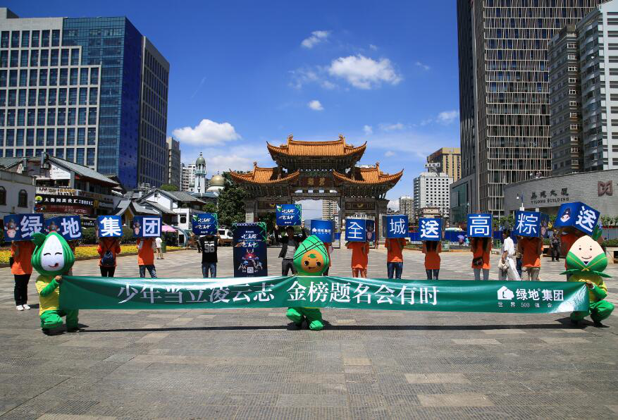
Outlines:
[[[109,278],[63,276],[63,309],[320,307],[551,314],[587,311],[580,282],[347,277]]]

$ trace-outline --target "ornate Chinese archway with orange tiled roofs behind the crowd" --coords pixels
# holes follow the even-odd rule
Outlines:
[[[277,204],[292,204],[306,199],[326,199],[338,203],[339,226],[347,216],[364,215],[376,221],[376,235],[381,233],[381,215],[386,214],[386,192],[393,188],[403,171],[390,175],[375,166],[357,166],[366,142],[354,147],[345,137],[328,142],[293,140],[280,146],[266,143],[277,166],[252,171],[230,171],[232,179],[245,187],[246,221],[257,221],[259,214],[275,211]]]

